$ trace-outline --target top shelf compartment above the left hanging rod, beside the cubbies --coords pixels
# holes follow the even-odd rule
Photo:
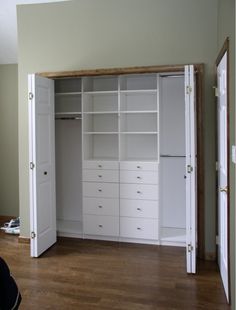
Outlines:
[[[81,93],[81,78],[55,80],[55,93],[61,95]]]

